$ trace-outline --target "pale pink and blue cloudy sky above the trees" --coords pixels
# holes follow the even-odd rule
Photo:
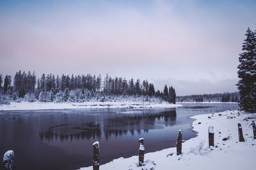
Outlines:
[[[108,73],[179,96],[235,92],[255,16],[248,0],[0,0],[0,73]]]

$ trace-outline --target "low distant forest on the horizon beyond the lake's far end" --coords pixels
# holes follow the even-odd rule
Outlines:
[[[190,95],[190,96],[177,96],[177,102],[238,102],[239,93],[238,92],[225,92],[218,94],[200,94],[200,95]]]

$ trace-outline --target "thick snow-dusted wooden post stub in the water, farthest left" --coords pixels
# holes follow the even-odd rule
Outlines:
[[[4,153],[3,166],[4,170],[16,170],[15,157],[12,150],[8,150]]]

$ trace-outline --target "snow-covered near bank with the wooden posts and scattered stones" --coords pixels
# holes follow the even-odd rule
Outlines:
[[[256,139],[253,140],[252,120],[256,113],[225,111],[208,115],[196,115],[193,130],[196,138],[182,143],[182,155],[176,155],[176,148],[147,153],[145,139],[145,166],[138,167],[138,156],[115,159],[100,169],[255,169]],[[237,123],[241,123],[245,142],[239,142]],[[208,127],[214,127],[214,145],[208,148]],[[177,132],[178,134],[178,132]],[[141,136],[143,137],[143,136]],[[84,167],[80,170],[88,170]]]

